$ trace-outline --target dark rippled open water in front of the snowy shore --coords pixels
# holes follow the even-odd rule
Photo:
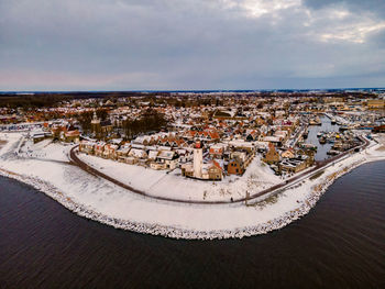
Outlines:
[[[385,162],[304,219],[244,240],[174,241],[79,218],[0,178],[0,288],[385,288]]]

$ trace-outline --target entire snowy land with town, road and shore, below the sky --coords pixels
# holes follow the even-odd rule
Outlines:
[[[264,234],[384,158],[381,89],[44,96],[0,98],[0,175],[134,232]]]

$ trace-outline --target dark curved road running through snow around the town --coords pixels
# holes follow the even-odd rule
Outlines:
[[[363,142],[362,145],[358,146],[362,149],[366,148],[367,145],[370,144],[370,142],[363,137],[360,136],[360,140]],[[346,156],[348,154],[351,154],[351,153],[354,153],[354,149],[358,148],[358,147],[353,147],[338,156],[334,156],[334,157],[331,157],[331,158],[328,158],[326,160],[322,160],[322,162],[316,162],[316,165],[310,169],[310,170],[307,170],[307,171],[304,171],[302,174],[299,174],[299,175],[296,175],[295,177],[286,180],[285,182],[280,182],[278,185],[275,185],[273,187],[270,187],[265,190],[262,190],[257,193],[254,193],[254,194],[251,194],[249,198],[241,198],[241,199],[235,199],[233,201],[229,200],[229,201],[193,201],[193,200],[184,200],[184,199],[175,199],[175,198],[167,198],[167,197],[160,197],[160,196],[152,196],[152,194],[148,194],[142,190],[138,190],[127,184],[123,184],[90,166],[88,166],[85,162],[82,162],[81,159],[79,159],[79,157],[77,156],[77,153],[76,153],[76,148],[78,146],[74,146],[70,152],[69,152],[69,157],[70,157],[70,160],[73,164],[77,165],[79,168],[81,168],[82,170],[94,175],[94,176],[97,176],[97,177],[101,177],[103,179],[107,179],[109,181],[111,181],[112,184],[121,187],[121,188],[124,188],[127,190],[130,190],[131,192],[133,193],[138,193],[138,194],[141,194],[141,196],[144,196],[146,198],[151,198],[151,199],[154,199],[154,200],[161,200],[161,201],[169,201],[169,202],[177,202],[177,203],[186,203],[186,204],[229,204],[229,203],[240,203],[240,202],[245,202],[248,200],[248,202],[252,201],[252,200],[255,200],[256,198],[260,198],[266,193],[272,193],[272,192],[275,192],[275,191],[279,191],[282,189],[285,189],[286,187],[289,187],[290,185],[294,185],[296,181],[298,181],[299,179],[302,179],[305,177],[311,177],[312,175],[317,174],[319,170],[328,167],[329,165],[331,165],[332,163],[336,163],[338,162],[339,159],[343,158],[344,156]]]

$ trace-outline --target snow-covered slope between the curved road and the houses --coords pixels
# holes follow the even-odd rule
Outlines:
[[[86,154],[79,154],[78,157],[101,173],[147,194],[183,200],[229,201],[230,198],[237,200],[246,197],[246,191],[253,194],[282,181],[268,166],[262,164],[258,156],[254,157],[243,176],[226,177],[222,181],[188,179],[180,176],[180,169],[166,174],[164,170],[122,164]]]

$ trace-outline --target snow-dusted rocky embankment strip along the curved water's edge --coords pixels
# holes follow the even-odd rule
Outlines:
[[[257,225],[250,225],[243,227],[234,227],[231,230],[211,230],[211,231],[198,231],[180,229],[175,226],[167,226],[162,224],[141,223],[132,220],[122,220],[111,218],[106,214],[99,213],[85,204],[76,203],[69,197],[66,197],[58,191],[53,185],[38,178],[19,175],[13,171],[0,169],[0,175],[3,177],[16,179],[21,182],[32,186],[38,191],[44,192],[50,198],[56,200],[66,209],[94,221],[100,222],[113,226],[116,229],[128,230],[142,234],[161,235],[170,238],[183,238],[183,240],[221,240],[221,238],[242,238],[245,236],[253,236],[260,234],[266,234],[274,230],[279,230],[289,223],[300,219],[301,216],[309,213],[309,211],[317,204],[321,196],[327,191],[338,178],[344,174],[353,170],[354,168],[371,162],[381,162],[382,159],[366,159],[361,158],[353,164],[339,169],[326,177],[326,180],[315,184],[311,186],[311,192],[309,196],[299,201],[300,205],[297,209],[286,211],[280,216],[270,220],[265,223]]]

